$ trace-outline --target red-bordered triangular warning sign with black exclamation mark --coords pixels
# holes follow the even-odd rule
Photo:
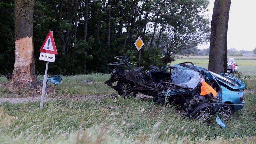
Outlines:
[[[44,43],[40,48],[40,52],[55,55],[58,54],[51,31],[49,31],[48,35],[46,36]]]

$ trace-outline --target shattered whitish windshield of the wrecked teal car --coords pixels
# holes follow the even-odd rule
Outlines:
[[[194,89],[199,83],[199,73],[193,70],[172,69],[171,79],[175,84]]]

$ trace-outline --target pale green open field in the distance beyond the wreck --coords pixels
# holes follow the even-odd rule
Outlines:
[[[238,64],[238,71],[242,74],[249,75],[252,78],[256,77],[256,57],[232,57],[235,59],[235,62]],[[174,62],[171,63],[177,64],[181,62],[193,62],[195,65],[208,69],[209,56],[179,56]]]

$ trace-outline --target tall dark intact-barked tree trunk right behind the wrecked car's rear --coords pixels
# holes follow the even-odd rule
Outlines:
[[[215,73],[227,72],[227,32],[231,0],[215,0],[211,22],[208,69]]]

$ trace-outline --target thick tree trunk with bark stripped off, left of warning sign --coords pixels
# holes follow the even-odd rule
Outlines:
[[[33,49],[34,0],[14,1],[15,63],[11,85],[37,87]]]

